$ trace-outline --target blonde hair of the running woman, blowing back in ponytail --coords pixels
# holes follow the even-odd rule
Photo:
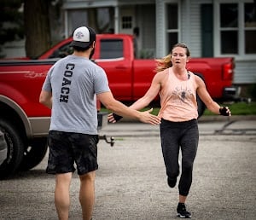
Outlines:
[[[172,50],[174,48],[177,48],[177,47],[186,49],[186,55],[190,56],[190,51],[189,51],[189,48],[187,47],[186,44],[176,43],[176,44],[173,45]],[[169,55],[166,55],[166,56],[162,57],[161,59],[156,59],[155,60],[155,61],[157,61],[157,67],[155,68],[155,72],[160,72],[160,71],[163,71],[163,70],[165,70],[169,67],[172,67],[172,50],[171,50],[171,53]]]

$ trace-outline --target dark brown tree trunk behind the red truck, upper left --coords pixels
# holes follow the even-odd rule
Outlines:
[[[26,56],[36,58],[50,47],[49,0],[25,0]]]

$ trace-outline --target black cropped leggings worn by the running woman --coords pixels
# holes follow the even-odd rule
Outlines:
[[[178,183],[179,194],[187,196],[192,183],[192,171],[198,147],[197,120],[171,122],[161,120],[160,138],[166,165],[166,175],[176,178],[179,174],[178,153],[182,152],[182,174]]]

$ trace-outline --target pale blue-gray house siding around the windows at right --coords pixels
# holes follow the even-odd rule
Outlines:
[[[166,15],[165,4],[173,3],[172,0],[156,0],[156,55],[166,55]],[[180,42],[186,43],[192,57],[201,57],[201,4],[212,3],[212,0],[184,0],[177,1],[179,4],[179,33]],[[213,16],[216,15],[213,13]],[[164,33],[164,34],[161,34]],[[218,45],[213,45],[217,48]],[[256,83],[256,56],[255,59],[236,60],[234,84]]]

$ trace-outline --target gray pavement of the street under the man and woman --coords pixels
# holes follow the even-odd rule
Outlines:
[[[256,219],[256,121],[201,121],[194,179],[187,200],[193,219]],[[221,131],[219,131],[221,130]],[[239,130],[239,132],[238,132]],[[158,126],[109,124],[113,148],[101,141],[93,219],[178,219],[177,186],[168,188]],[[55,179],[47,156],[32,171],[0,182],[0,219],[56,219]],[[81,219],[73,175],[70,219]]]

